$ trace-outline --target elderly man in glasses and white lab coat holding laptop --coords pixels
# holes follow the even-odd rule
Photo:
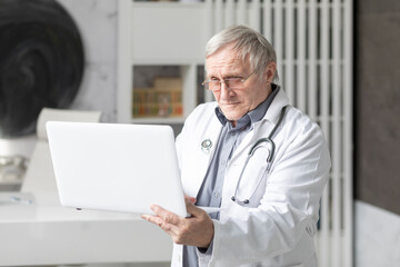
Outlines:
[[[231,27],[206,47],[216,102],[200,105],[177,138],[190,217],[160,206],[172,266],[317,266],[314,234],[330,157],[316,122],[289,105],[276,52],[257,31]],[[220,207],[206,214],[196,206]]]

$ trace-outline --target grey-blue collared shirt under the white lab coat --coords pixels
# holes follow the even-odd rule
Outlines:
[[[216,152],[210,162],[203,182],[197,196],[197,206],[220,207],[226,166],[234,150],[244,139],[247,134],[253,129],[253,123],[261,120],[273,98],[279,91],[279,87],[272,85],[272,93],[261,102],[256,109],[249,111],[237,121],[237,126],[224,117],[219,108],[216,108],[216,116],[222,125],[221,135],[217,142]],[[210,214],[212,219],[219,219],[219,212]],[[183,267],[198,266],[197,247],[183,246]],[[200,253],[211,254],[212,244],[209,248],[199,248]]]

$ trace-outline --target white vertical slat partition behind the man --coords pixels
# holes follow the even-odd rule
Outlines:
[[[291,103],[322,128],[332,169],[321,199],[321,267],[352,266],[352,0],[208,0],[214,31],[249,24],[277,51]]]

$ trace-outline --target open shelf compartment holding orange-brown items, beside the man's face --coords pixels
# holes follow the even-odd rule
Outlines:
[[[199,68],[202,66],[133,65],[131,120],[181,123],[198,103]],[[159,102],[158,95],[164,95],[169,102]],[[160,107],[166,116],[157,117]]]

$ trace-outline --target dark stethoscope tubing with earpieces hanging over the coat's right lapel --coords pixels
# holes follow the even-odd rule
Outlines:
[[[270,147],[271,147],[271,150],[270,150],[270,154],[268,155],[268,158],[267,158],[267,172],[269,172],[270,168],[271,168],[271,165],[272,165],[272,158],[274,156],[274,150],[276,150],[276,144],[272,141],[272,137],[274,135],[274,132],[277,131],[278,127],[280,126],[280,123],[282,122],[282,119],[284,117],[284,112],[286,112],[286,109],[287,109],[287,106],[284,106],[281,110],[281,113],[279,116],[279,120],[277,122],[277,125],[273,127],[272,131],[270,132],[270,135],[267,137],[267,138],[260,138],[259,140],[257,140],[254,142],[254,145],[250,148],[248,155],[247,155],[247,158],[246,158],[246,162],[244,162],[244,166],[242,168],[242,170],[240,171],[240,176],[239,176],[239,179],[238,179],[238,184],[234,188],[234,195],[231,197],[232,201],[237,202],[237,204],[240,204],[240,205],[244,205],[244,204],[249,204],[251,199],[251,197],[256,194],[258,187],[260,186],[261,184],[261,180],[258,182],[257,187],[254,188],[253,192],[251,194],[251,196],[249,198],[246,198],[243,200],[240,200],[238,197],[237,197],[237,194],[238,194],[238,188],[240,186],[240,181],[241,181],[241,178],[242,178],[242,175],[246,170],[246,167],[250,160],[250,158],[254,155],[254,151],[260,148],[260,144],[262,142],[267,142],[267,144],[270,144]]]

